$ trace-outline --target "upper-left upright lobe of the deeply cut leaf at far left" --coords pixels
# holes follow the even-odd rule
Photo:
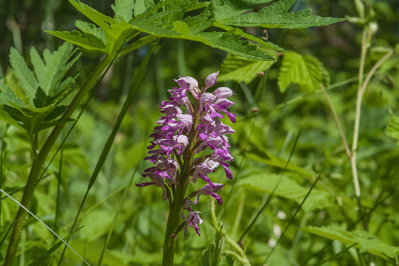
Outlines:
[[[18,51],[14,47],[11,47],[9,57],[14,75],[20,82],[21,87],[28,97],[30,103],[33,104],[36,91],[39,87],[38,81],[36,80],[32,71],[29,69],[24,58],[18,53]]]

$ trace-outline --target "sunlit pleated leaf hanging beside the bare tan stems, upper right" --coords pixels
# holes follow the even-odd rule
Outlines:
[[[284,92],[291,83],[312,92],[320,88],[320,83],[327,86],[330,74],[317,58],[292,52],[284,55],[277,84],[280,91]]]

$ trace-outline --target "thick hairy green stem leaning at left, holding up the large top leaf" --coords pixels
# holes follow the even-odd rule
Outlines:
[[[75,98],[72,100],[70,105],[68,106],[65,113],[62,115],[62,118],[69,118],[71,117],[73,111],[79,106],[82,99],[87,95],[95,81],[99,78],[101,73],[105,70],[105,68],[111,63],[114,55],[107,55],[101,61],[101,63],[95,68],[93,73],[91,73],[90,77],[87,79],[83,87],[79,90],[79,92],[75,95]],[[54,127],[53,131],[51,131],[49,137],[47,138],[46,142],[43,145],[40,153],[37,157],[34,158],[32,163],[32,168],[29,173],[28,181],[26,183],[24,195],[22,196],[21,204],[26,208],[29,208],[29,203],[33,195],[33,191],[36,187],[36,181],[38,180],[41,167],[47,157],[48,153],[53,147],[55,141],[57,140],[59,134],[61,133],[62,129],[64,128],[65,124],[57,125]],[[20,207],[18,209],[18,214],[16,216],[15,226],[12,230],[10,244],[8,245],[6,258],[4,259],[4,266],[13,266],[14,259],[16,256],[16,252],[18,249],[18,244],[21,238],[22,228],[24,227],[25,219],[26,219],[27,212],[24,208]]]

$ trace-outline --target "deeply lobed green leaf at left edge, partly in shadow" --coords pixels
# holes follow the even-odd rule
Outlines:
[[[57,119],[66,109],[66,106],[60,106],[59,103],[69,94],[71,90],[66,91],[66,88],[77,76],[64,77],[81,54],[74,58],[72,55],[73,45],[68,42],[53,53],[47,49],[44,50],[44,61],[32,47],[30,56],[35,77],[24,58],[11,48],[12,72],[32,106],[28,106],[28,103],[17,97],[8,84],[2,82],[0,83],[0,119],[32,135],[48,127],[72,121],[73,119]]]

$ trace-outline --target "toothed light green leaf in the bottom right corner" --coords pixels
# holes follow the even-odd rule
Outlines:
[[[302,231],[317,234],[328,239],[338,240],[342,243],[349,245],[358,243],[355,245],[355,247],[359,248],[360,252],[369,252],[383,258],[386,258],[386,256],[393,258],[399,252],[399,247],[390,246],[385,242],[379,240],[373,234],[364,230],[358,229],[352,232],[348,232],[344,229],[334,226],[307,226],[300,229]]]

